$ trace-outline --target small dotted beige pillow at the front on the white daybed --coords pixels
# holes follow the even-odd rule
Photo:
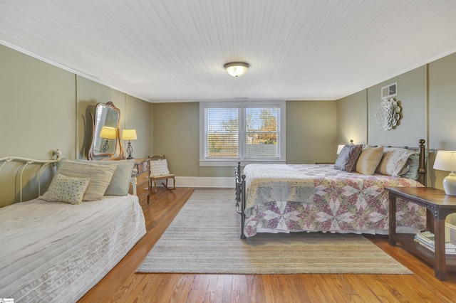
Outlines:
[[[56,174],[49,185],[48,191],[40,198],[48,202],[79,204],[83,201],[89,181],[90,178],[76,178]]]

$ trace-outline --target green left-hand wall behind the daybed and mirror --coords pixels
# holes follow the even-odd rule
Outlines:
[[[121,129],[137,129],[134,156],[150,154],[149,102],[0,45],[0,157],[51,159],[53,149],[60,149],[64,158],[86,159],[91,137],[87,110],[108,101],[120,108]],[[36,168],[24,171],[25,179],[31,179],[23,186],[24,200],[38,193]],[[19,179],[11,178],[18,169],[19,164],[9,163],[0,171],[0,206],[19,201]],[[50,179],[46,171],[43,191]]]

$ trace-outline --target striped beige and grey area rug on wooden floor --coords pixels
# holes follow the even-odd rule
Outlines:
[[[362,235],[257,234],[242,240],[234,189],[196,189],[137,272],[412,274]]]

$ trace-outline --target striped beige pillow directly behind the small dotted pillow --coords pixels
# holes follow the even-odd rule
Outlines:
[[[81,161],[61,159],[57,169],[58,174],[78,178],[90,178],[83,201],[100,200],[105,195],[116,169],[115,164],[96,164]]]

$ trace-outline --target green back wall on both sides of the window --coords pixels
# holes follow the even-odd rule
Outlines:
[[[234,166],[199,166],[199,103],[152,105],[153,151],[165,154],[176,176],[232,177]],[[336,159],[336,102],[286,102],[286,160]]]

